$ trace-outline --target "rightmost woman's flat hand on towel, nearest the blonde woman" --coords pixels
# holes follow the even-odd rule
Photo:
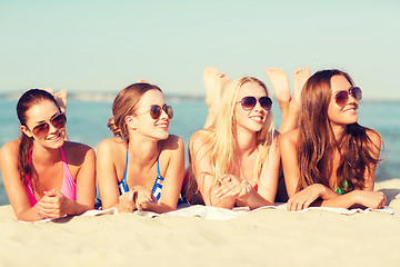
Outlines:
[[[293,211],[308,208],[313,201],[322,196],[324,189],[326,187],[321,184],[308,186],[289,199],[287,209]]]

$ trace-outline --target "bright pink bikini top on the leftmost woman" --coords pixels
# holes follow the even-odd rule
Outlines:
[[[32,149],[33,148],[31,148],[29,151],[29,164],[30,165],[32,164]],[[63,169],[63,180],[62,180],[61,192],[69,199],[77,200],[77,184],[73,180],[72,175],[68,168],[62,147],[60,147],[60,150],[61,150],[61,156],[62,156],[62,169]],[[26,180],[28,181],[27,191],[28,191],[29,200],[33,207],[38,202],[38,200],[36,199],[33,190],[32,190],[32,182],[30,179],[30,175],[27,175]]]

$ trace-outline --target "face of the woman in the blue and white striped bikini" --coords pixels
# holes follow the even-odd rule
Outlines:
[[[157,140],[164,140],[169,136],[168,128],[170,118],[164,109],[160,110],[160,117],[156,119],[152,118],[150,110],[154,111],[154,108],[158,108],[154,106],[166,107],[164,96],[159,90],[149,90],[139,100],[134,116],[131,116],[131,126],[132,129],[143,136],[154,138]]]

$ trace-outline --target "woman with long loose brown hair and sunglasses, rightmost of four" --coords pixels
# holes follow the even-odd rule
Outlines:
[[[299,129],[280,140],[288,210],[384,207],[384,195],[373,191],[382,138],[357,122],[361,97],[340,70],[319,71],[304,85]]]

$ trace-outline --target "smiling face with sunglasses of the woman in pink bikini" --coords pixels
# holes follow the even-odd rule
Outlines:
[[[60,115],[54,102],[43,100],[27,110],[27,126],[21,126],[21,130],[42,147],[59,148],[64,141],[64,123]]]

